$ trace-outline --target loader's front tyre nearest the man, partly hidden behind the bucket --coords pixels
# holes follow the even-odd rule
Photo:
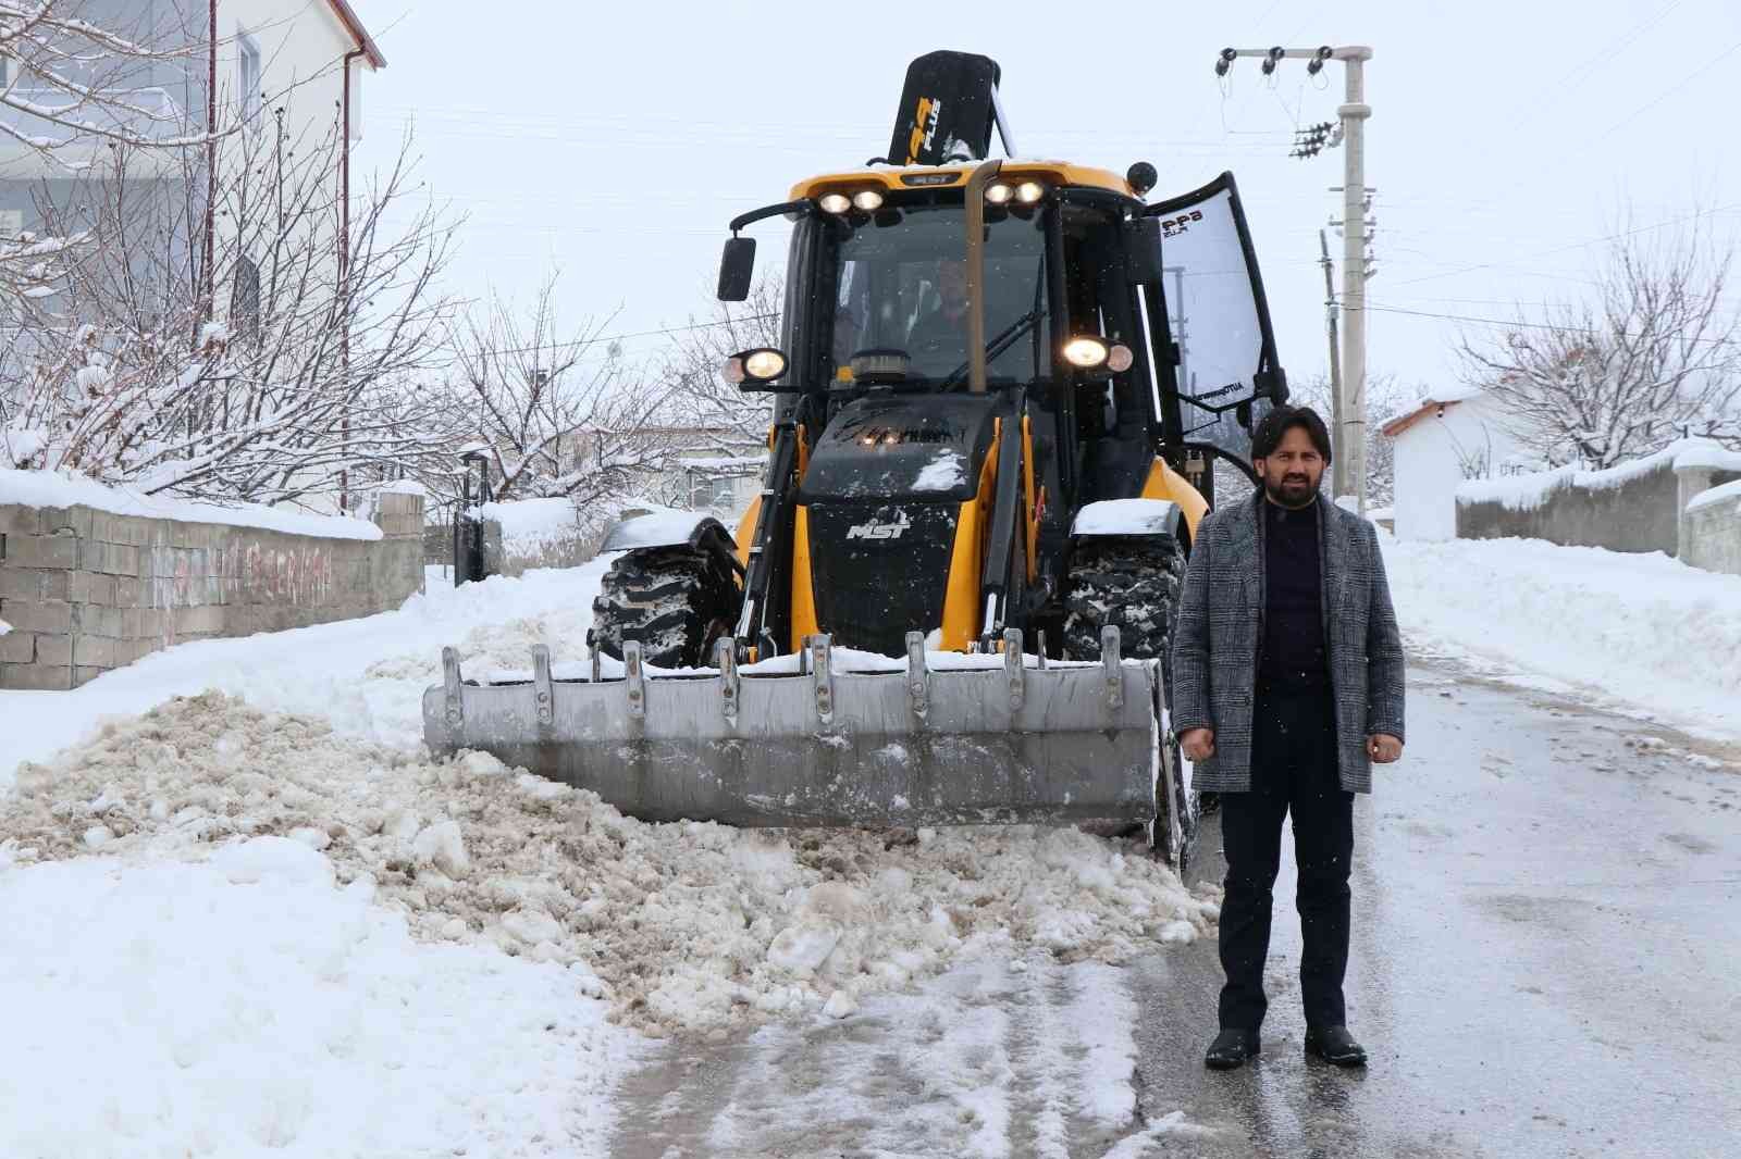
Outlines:
[[[1064,595],[1064,649],[1071,660],[1100,658],[1100,630],[1118,628],[1119,653],[1161,661],[1161,703],[1172,698],[1172,633],[1179,621],[1179,592],[1186,576],[1186,552],[1172,536],[1109,536],[1086,539],[1071,559]],[[1177,760],[1177,747],[1163,741],[1163,759]],[[1160,792],[1161,785],[1156,785]],[[1189,870],[1191,846],[1203,814],[1201,795],[1180,794],[1160,802],[1184,818],[1184,847],[1170,849],[1161,818],[1149,830],[1156,856],[1170,861],[1180,879]]]

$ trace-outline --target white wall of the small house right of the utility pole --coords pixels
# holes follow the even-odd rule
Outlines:
[[[1447,402],[1443,414],[1428,412],[1395,437],[1396,536],[1402,539],[1454,539],[1457,536],[1457,484],[1464,463],[1485,463],[1501,475],[1525,458],[1502,411],[1487,397]]]

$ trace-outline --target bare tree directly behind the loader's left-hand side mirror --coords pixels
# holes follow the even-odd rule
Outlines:
[[[763,275],[749,299],[716,301],[705,318],[691,317],[688,329],[677,331],[660,369],[676,390],[672,405],[682,421],[742,435],[749,444],[768,437],[773,397],[738,390],[721,371],[738,352],[780,345],[785,280]]]

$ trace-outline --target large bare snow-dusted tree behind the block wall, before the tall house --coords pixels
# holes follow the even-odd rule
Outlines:
[[[209,261],[190,242],[197,183],[131,181],[127,150],[71,202],[80,221],[40,205],[56,233],[77,224],[92,244],[63,258],[52,312],[23,320],[0,362],[0,419],[38,444],[30,465],[282,503],[440,456],[447,400],[418,383],[435,378],[451,317],[434,280],[453,224],[407,205],[409,137],[397,167],[353,190],[348,230],[339,125],[299,139],[270,125],[226,148]]]

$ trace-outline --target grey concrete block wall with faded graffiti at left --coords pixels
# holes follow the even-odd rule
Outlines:
[[[0,505],[0,689],[68,689],[171,644],[397,607],[423,586],[423,498],[380,539]]]

